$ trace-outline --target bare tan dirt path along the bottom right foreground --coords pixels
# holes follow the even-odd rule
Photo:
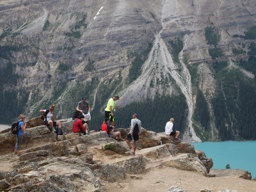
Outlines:
[[[198,192],[201,189],[220,191],[224,189],[239,192],[256,191],[256,182],[232,177],[204,177],[195,172],[188,172],[164,166],[150,170],[145,174],[136,175],[131,179],[128,175],[125,180],[111,183],[106,182],[108,192],[116,191],[167,191],[172,186],[178,186],[189,192]]]

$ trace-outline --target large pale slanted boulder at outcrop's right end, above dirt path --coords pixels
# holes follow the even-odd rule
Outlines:
[[[172,157],[163,164],[180,170],[197,172],[200,175],[207,176],[207,170],[200,159],[198,159],[198,157],[190,156],[189,154],[180,154],[176,157]]]

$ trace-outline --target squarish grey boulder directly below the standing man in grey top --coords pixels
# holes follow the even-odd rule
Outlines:
[[[131,157],[130,159],[126,159],[122,164],[124,167],[125,173],[128,174],[138,174],[145,172],[146,159],[143,156]]]

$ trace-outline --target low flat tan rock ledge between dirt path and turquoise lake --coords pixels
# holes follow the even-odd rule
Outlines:
[[[212,169],[210,171],[211,175],[216,175],[216,177],[239,177],[247,180],[252,180],[252,175],[246,170],[235,170],[235,169]]]

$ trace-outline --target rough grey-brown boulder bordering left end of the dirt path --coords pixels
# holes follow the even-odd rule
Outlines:
[[[125,173],[124,168],[117,164],[100,164],[100,168],[93,171],[95,175],[102,180],[108,180],[109,182],[116,182],[116,180],[124,180]]]

